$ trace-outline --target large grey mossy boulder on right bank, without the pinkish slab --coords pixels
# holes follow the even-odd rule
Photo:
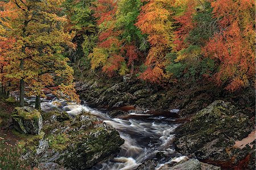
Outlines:
[[[230,161],[236,157],[232,148],[234,140],[245,138],[252,129],[248,117],[237,113],[231,103],[214,101],[196,113],[191,122],[177,128],[175,144],[184,155],[201,160]]]

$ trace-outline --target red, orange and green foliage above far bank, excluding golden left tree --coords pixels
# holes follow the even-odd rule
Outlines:
[[[250,0],[96,1],[98,41],[88,58],[109,76],[136,73],[158,84],[209,78],[237,90],[254,82],[254,7]]]

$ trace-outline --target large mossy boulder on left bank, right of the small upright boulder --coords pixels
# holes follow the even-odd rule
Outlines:
[[[34,151],[28,150],[28,159],[34,159],[39,169],[87,169],[112,159],[124,143],[112,126],[89,113],[72,119],[65,112],[51,111],[43,118],[44,138],[32,147]]]

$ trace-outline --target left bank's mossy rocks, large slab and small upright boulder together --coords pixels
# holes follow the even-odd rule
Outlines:
[[[17,122],[14,123],[16,130],[24,134],[16,132],[21,138],[23,159],[39,169],[90,168],[100,161],[113,159],[124,143],[112,126],[86,112],[75,118],[60,111],[41,116],[31,107],[16,107],[12,117]],[[42,121],[42,117],[42,125],[35,123]]]

